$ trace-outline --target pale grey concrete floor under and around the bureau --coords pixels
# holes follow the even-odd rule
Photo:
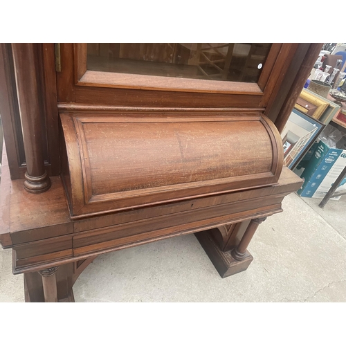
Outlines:
[[[290,194],[260,225],[248,270],[221,279],[194,235],[99,256],[74,286],[76,302],[346,302],[346,196]],[[0,302],[23,302],[22,275],[0,249]]]

